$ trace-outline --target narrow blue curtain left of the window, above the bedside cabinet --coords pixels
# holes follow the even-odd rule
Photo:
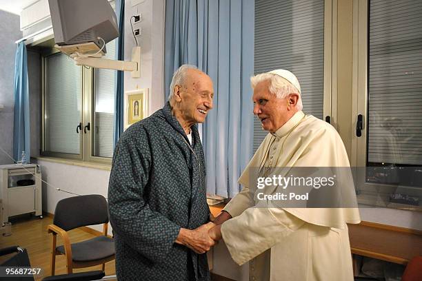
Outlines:
[[[14,58],[14,123],[13,158],[21,160],[22,152],[30,162],[30,108],[26,45],[21,41]]]

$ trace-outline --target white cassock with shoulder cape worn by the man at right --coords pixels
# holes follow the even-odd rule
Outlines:
[[[250,280],[353,280],[348,226],[359,223],[353,183],[343,186],[355,208],[257,208],[252,167],[350,167],[343,141],[328,123],[297,112],[268,134],[239,178],[242,191],[226,205],[221,225],[237,264],[250,262]],[[256,189],[256,188],[255,188]]]

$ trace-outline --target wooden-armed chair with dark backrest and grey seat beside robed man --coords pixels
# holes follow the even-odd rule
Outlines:
[[[70,244],[66,231],[77,227],[103,224],[103,236]],[[92,267],[114,260],[114,240],[107,236],[107,201],[101,195],[74,196],[60,200],[54,211],[53,225],[48,226],[52,233],[51,275],[54,275],[57,255],[66,256],[68,273],[81,267]],[[63,239],[63,246],[56,246],[57,234]]]

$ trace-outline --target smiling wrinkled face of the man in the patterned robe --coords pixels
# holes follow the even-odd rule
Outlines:
[[[214,98],[210,76],[199,70],[189,70],[185,87],[181,87],[180,91],[183,120],[192,124],[205,122]]]

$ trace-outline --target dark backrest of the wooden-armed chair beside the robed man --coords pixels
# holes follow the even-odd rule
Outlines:
[[[53,224],[68,231],[108,222],[107,201],[99,194],[74,196],[57,202]]]

